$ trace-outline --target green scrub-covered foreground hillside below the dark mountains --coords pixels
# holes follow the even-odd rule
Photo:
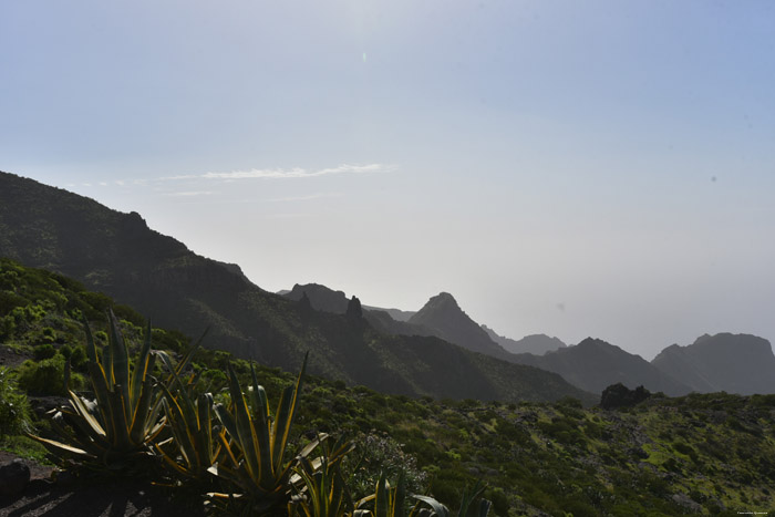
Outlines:
[[[503,516],[731,516],[774,509],[772,395],[651,396],[618,411],[582,407],[574,399],[505,404],[392,396],[314,375],[302,381],[224,352],[192,349],[185,337],[144,331],[147,324],[136,312],[45,271],[2,262],[0,289],[0,350],[31,358],[0,369],[0,416],[10,415],[0,418],[0,447],[39,454],[20,437],[23,423],[32,423],[37,435],[62,443],[63,454],[86,458],[91,468],[121,476],[164,473],[157,482],[210,494],[214,510],[386,515],[385,508],[403,506],[409,513],[416,506],[417,513],[443,513],[425,494],[455,509],[465,506],[465,496],[467,509],[479,513],[486,499],[490,515]],[[104,325],[111,307],[117,321]],[[99,368],[90,365],[84,318],[101,329],[91,338]],[[110,344],[122,343],[122,333],[126,354]],[[72,395],[62,382],[68,359]],[[142,371],[154,380],[145,399]],[[97,385],[115,392],[103,396],[105,407],[113,399],[130,401],[122,411],[101,416],[93,372],[97,381],[104,372]],[[40,401],[37,396],[63,393],[81,402],[62,400],[71,409],[55,422],[35,421],[25,394]],[[148,416],[141,424],[138,415]],[[122,423],[126,434],[116,443],[124,443],[127,457],[106,454],[100,432],[86,443],[65,438],[70,430],[83,442],[90,416]],[[293,425],[285,426],[289,417]],[[85,427],[73,418],[85,420]],[[137,437],[146,431],[151,440]],[[262,458],[256,453],[247,459],[261,451]],[[144,467],[148,462],[153,469]],[[271,492],[277,478],[287,489]]]

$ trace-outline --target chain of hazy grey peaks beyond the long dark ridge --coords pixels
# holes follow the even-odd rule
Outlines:
[[[286,296],[298,300],[304,292],[316,309],[334,313],[344,313],[347,309],[344,292],[326,286],[297,285]],[[600,393],[618,382],[631,389],[643,385],[668,395],[692,391],[775,393],[772,347],[766,340],[752,335],[706,335],[691,347],[669,347],[649,363],[640,355],[597,339],[567,347],[559,339],[545,334],[520,340],[500,337],[486,325],[477,325],[452,294],[445,292],[431,298],[418,312],[411,314],[409,321],[395,321],[383,309],[364,312],[372,325],[383,332],[435,335],[469,350],[558,373],[592,393]]]

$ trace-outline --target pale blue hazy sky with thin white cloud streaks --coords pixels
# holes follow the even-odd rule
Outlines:
[[[775,339],[773,92],[768,0],[0,1],[0,169],[647,359]]]

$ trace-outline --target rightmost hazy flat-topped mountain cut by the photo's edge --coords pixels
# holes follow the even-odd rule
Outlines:
[[[700,393],[775,393],[773,348],[755,335],[704,334],[688,347],[668,347],[651,364]]]

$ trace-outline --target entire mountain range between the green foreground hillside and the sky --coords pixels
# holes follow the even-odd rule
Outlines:
[[[364,304],[355,320],[344,316],[350,300],[342,291],[311,283],[267,292],[237,265],[192,252],[136,213],[7,173],[0,256],[71,276],[159,325],[189,335],[209,327],[211,348],[290,370],[311,350],[313,372],[389,393],[590,402],[589,392],[617,382],[670,395],[775,393],[775,355],[762,338],[703,335],[649,363],[595,339],[567,347],[544,334],[498,335],[447,292],[416,312]]]

